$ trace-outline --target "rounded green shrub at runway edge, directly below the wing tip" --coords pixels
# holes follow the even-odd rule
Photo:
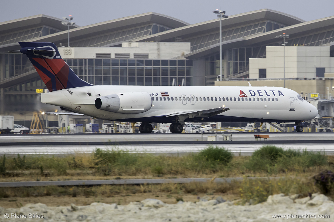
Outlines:
[[[217,146],[216,147],[208,146],[208,148],[200,151],[199,155],[204,157],[206,161],[218,162],[224,165],[229,163],[233,158],[233,154],[231,151],[223,147],[220,148]]]

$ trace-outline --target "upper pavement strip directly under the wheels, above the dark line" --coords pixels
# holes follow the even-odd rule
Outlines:
[[[267,134],[270,140],[334,140],[333,132],[278,132],[278,133],[232,133],[233,141],[252,141],[254,134]],[[108,141],[206,141],[208,135],[222,133],[68,133],[68,134],[1,134],[4,142],[108,142]]]

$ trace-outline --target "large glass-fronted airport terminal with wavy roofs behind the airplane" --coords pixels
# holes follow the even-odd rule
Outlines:
[[[69,46],[67,27],[61,22],[36,15],[0,23],[0,114],[54,111],[36,103],[36,89],[46,88],[27,57],[8,53],[20,49],[18,42],[55,43],[72,70],[96,85],[214,86],[219,75],[219,19],[188,24],[150,12],[74,25]],[[331,77],[327,74],[334,73],[334,16],[306,22],[262,9],[222,20],[224,81],[216,85],[244,85],[232,80],[247,78],[282,79],[282,69],[275,67],[282,65],[282,40],[275,37],[283,33],[289,35],[287,80]],[[299,69],[303,65],[308,68]]]

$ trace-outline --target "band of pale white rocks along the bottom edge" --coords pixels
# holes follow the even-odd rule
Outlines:
[[[46,205],[30,204],[21,208],[8,208],[2,210],[4,213],[36,213],[47,211],[42,220],[19,220],[19,221],[86,221],[86,222],[116,222],[116,221],[228,221],[228,222],[267,222],[273,220],[272,214],[327,214],[334,215],[334,202],[330,201],[322,194],[296,199],[296,203],[291,202],[289,196],[282,194],[273,195],[268,198],[268,202],[255,205],[229,205],[226,201],[216,204],[216,200],[184,202],[183,204],[165,204],[157,199],[146,199],[140,202],[131,202],[128,205],[117,206],[116,204],[93,203],[89,206],[77,206],[79,210],[73,211],[70,207],[47,207]],[[290,201],[287,201],[290,199]],[[217,201],[218,202],[218,201]],[[145,206],[147,204],[147,206]],[[208,204],[208,206],[203,206]],[[214,205],[211,206],[210,204]],[[156,207],[160,206],[160,207]],[[163,207],[162,207],[163,206]],[[117,208],[116,208],[117,207]],[[69,209],[69,211],[67,210]],[[125,209],[131,209],[126,211]],[[61,213],[64,212],[64,213]],[[326,220],[326,219],[325,219]],[[328,220],[328,219],[327,219]],[[0,222],[18,221],[6,220],[0,216]],[[292,222],[321,222],[324,219],[289,219]],[[330,221],[330,220],[328,220]]]

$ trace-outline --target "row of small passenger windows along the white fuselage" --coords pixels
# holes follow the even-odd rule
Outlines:
[[[166,99],[167,98],[167,99]],[[152,101],[154,101],[154,99],[156,100],[156,101],[158,101],[158,100],[160,100],[160,101],[162,101],[162,100],[164,100],[164,101],[182,101],[182,99],[183,99],[183,101],[186,101],[186,100],[188,100],[188,101],[194,101],[194,100],[196,100],[196,101],[249,101],[249,102],[251,102],[252,100],[253,101],[265,101],[265,102],[270,102],[270,101],[278,101],[278,99],[277,98],[270,98],[270,97],[268,97],[268,99],[267,99],[267,97],[257,97],[257,98],[255,98],[255,97],[253,97],[253,99],[252,98],[248,98],[248,97],[222,97],[222,98],[220,98],[220,97],[203,97],[203,99],[202,99],[202,97],[187,97],[187,99],[185,98],[185,97],[175,97],[175,99],[174,99],[174,97],[152,97]]]

